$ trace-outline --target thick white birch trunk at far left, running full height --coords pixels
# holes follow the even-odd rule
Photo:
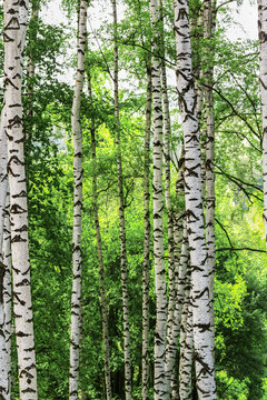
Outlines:
[[[28,206],[22,130],[22,54],[28,1],[4,1],[4,99],[10,184],[13,312],[18,349],[20,399],[36,400],[37,371],[30,289]]]

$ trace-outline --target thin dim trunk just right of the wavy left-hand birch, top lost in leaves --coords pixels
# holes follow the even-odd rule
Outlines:
[[[92,100],[91,91],[91,78],[88,73],[88,91],[90,99]],[[107,400],[112,399],[111,392],[111,378],[110,378],[110,362],[109,362],[109,330],[108,330],[108,311],[107,311],[107,297],[105,286],[105,271],[102,260],[102,240],[99,227],[98,218],[98,193],[97,193],[97,150],[96,150],[96,130],[93,119],[91,120],[91,151],[93,160],[93,176],[92,176],[92,207],[95,216],[95,226],[97,233],[98,243],[98,263],[99,263],[99,279],[100,279],[100,292],[101,292],[101,314],[102,314],[102,332],[103,332],[103,346],[105,346],[105,381],[106,381],[106,393]]]

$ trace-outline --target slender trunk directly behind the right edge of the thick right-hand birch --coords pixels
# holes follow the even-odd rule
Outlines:
[[[210,40],[212,39],[214,21],[214,0],[204,2],[204,39],[207,41],[207,62],[214,56]],[[215,117],[214,117],[214,68],[208,68],[205,73],[205,99],[207,108],[207,137],[206,137],[206,242],[207,242],[207,267],[209,276],[209,294],[210,294],[210,318],[212,334],[215,334],[214,321],[214,274],[215,274]]]

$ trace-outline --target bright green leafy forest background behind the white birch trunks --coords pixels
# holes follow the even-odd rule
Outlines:
[[[99,9],[96,14],[95,3]],[[261,124],[258,41],[230,40],[231,3],[218,4],[212,39],[216,127],[216,379],[218,399],[267,399],[266,253],[263,223]],[[3,8],[0,6],[0,19]],[[66,399],[69,384],[69,336],[72,284],[73,144],[71,104],[76,69],[77,4],[63,1],[62,23],[49,23],[50,2],[30,18],[24,50],[23,110],[29,204],[32,304],[39,398]],[[128,256],[132,397],[141,399],[141,308],[144,253],[144,138],[146,57],[149,10],[145,1],[119,1],[119,102],[123,201]],[[198,1],[191,1],[191,12]],[[239,7],[238,4],[236,6]],[[93,11],[95,8],[95,11]],[[110,8],[111,10],[111,8]],[[99,223],[108,308],[110,371],[113,398],[123,398],[123,332],[118,223],[117,150],[112,93],[112,24],[106,2],[88,9],[87,78],[81,102],[83,133],[82,333],[80,391],[85,399],[105,398],[103,340],[92,178],[98,177]],[[50,11],[49,11],[50,12]],[[101,14],[101,18],[100,18]],[[99,16],[99,17],[98,17]],[[171,201],[182,149],[175,88],[172,3],[164,2],[166,67],[170,100]],[[255,16],[255,19],[257,17]],[[93,21],[92,21],[93,20]],[[99,23],[101,22],[101,24]],[[250,23],[248,21],[247,23]],[[146,28],[144,28],[146,27]],[[246,30],[246,27],[244,27]],[[144,37],[145,36],[145,37]],[[146,37],[147,36],[147,37]],[[145,38],[145,39],[144,39]],[[142,43],[142,46],[140,46]],[[192,34],[195,61],[205,52],[201,34]],[[27,60],[34,63],[29,78]],[[3,42],[0,42],[3,64]],[[2,70],[2,69],[1,69]],[[201,82],[201,80],[200,80]],[[3,80],[0,88],[3,99]],[[91,90],[91,91],[90,91]],[[90,94],[92,92],[92,94]],[[29,112],[30,111],[30,112]],[[90,127],[97,136],[97,166],[91,157]],[[205,124],[205,122],[204,122]],[[30,134],[27,134],[27,132]],[[150,166],[151,167],[151,166]],[[152,170],[150,170],[150,176]],[[150,188],[151,189],[151,188]],[[151,208],[151,204],[150,204]],[[165,257],[168,259],[167,208]],[[152,260],[152,253],[150,256]],[[154,270],[150,272],[150,397],[155,328]],[[12,339],[14,341],[14,338]],[[12,347],[12,399],[18,399],[16,347]]]

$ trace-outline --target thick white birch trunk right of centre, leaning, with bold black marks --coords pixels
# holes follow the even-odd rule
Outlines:
[[[185,198],[192,283],[192,329],[199,400],[216,399],[210,292],[200,188],[200,144],[191,70],[189,10],[174,0],[177,52],[177,91],[185,142]]]

